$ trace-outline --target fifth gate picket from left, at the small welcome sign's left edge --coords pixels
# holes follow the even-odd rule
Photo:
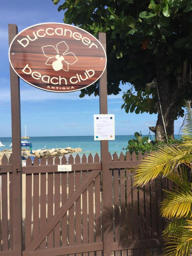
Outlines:
[[[60,164],[60,158],[56,156],[55,164]],[[60,173],[54,174],[54,187],[55,187],[55,195],[54,195],[54,202],[55,202],[55,213],[60,209]],[[54,241],[55,247],[60,246],[60,222],[58,222],[54,228]]]

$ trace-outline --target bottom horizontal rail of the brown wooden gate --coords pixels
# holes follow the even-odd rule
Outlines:
[[[69,255],[69,254],[76,254],[76,253],[83,253],[83,252],[92,252],[96,250],[102,250],[103,249],[103,243],[87,243],[87,244],[81,244],[81,245],[75,245],[75,246],[64,246],[59,248],[53,248],[53,249],[45,249],[45,250],[37,250],[34,252],[24,252],[23,256],[27,255],[34,255],[34,256],[60,256],[60,255]]]

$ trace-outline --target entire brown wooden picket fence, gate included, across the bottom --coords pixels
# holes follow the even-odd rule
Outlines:
[[[109,154],[107,188],[98,154],[70,155],[69,173],[57,171],[58,165],[67,164],[65,156],[43,157],[40,163],[38,158],[33,163],[28,158],[26,167],[17,173],[22,176],[23,255],[101,256],[106,235],[112,255],[157,255],[164,226],[159,207],[162,188],[168,185],[158,177],[144,187],[132,186],[130,168],[142,157],[141,153],[138,157]],[[12,156],[8,160],[4,155],[0,177],[0,254],[4,256],[14,254],[13,209],[20,207],[13,201]]]

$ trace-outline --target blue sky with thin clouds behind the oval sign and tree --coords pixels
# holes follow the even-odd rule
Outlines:
[[[63,0],[61,1],[63,2]],[[8,23],[16,24],[18,31],[43,22],[63,22],[51,0],[1,1],[0,8],[0,137],[11,136],[11,103],[8,59]],[[148,126],[155,126],[157,115],[136,115],[121,110],[122,94],[129,85],[121,85],[119,95],[108,96],[108,113],[115,114],[116,135],[132,135],[135,131],[148,134]],[[84,136],[93,135],[93,114],[99,114],[99,98],[79,98],[80,91],[52,93],[42,91],[20,79],[21,131],[27,126],[30,136]],[[175,121],[175,134],[182,118]]]

